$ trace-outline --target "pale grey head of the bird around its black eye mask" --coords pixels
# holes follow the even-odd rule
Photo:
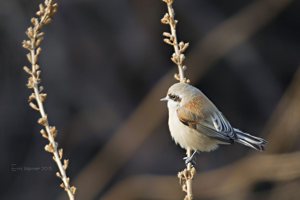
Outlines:
[[[169,96],[169,99],[172,99],[173,101],[177,100],[179,104],[184,105],[199,93],[201,93],[200,90],[187,83],[176,83],[169,88],[167,95]],[[173,95],[178,96],[179,99],[176,99],[176,97],[174,99],[171,98]]]

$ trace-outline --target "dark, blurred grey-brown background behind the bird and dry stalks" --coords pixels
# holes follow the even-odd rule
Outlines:
[[[185,151],[159,99],[176,83],[160,0],[64,0],[45,25],[41,85],[76,199],[183,199]],[[0,1],[0,199],[67,199],[21,47],[38,0]],[[175,0],[186,78],[232,126],[268,140],[197,155],[194,199],[300,199],[300,1]],[[22,167],[23,170],[12,171]],[[52,170],[25,170],[52,167]]]

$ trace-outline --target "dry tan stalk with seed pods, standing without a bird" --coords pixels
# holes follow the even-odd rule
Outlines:
[[[76,188],[74,186],[70,187],[70,178],[67,177],[65,171],[67,169],[69,160],[64,160],[64,164],[61,163],[62,149],[57,149],[58,143],[54,140],[57,134],[57,130],[55,126],[49,126],[47,115],[43,107],[43,101],[46,99],[46,94],[41,93],[43,87],[38,86],[38,84],[41,83],[41,79],[39,78],[41,71],[38,70],[39,66],[37,65],[38,54],[41,52],[41,48],[38,47],[38,45],[41,43],[41,40],[43,40],[42,36],[44,35],[44,33],[39,32],[39,30],[44,24],[51,22],[51,15],[53,13],[56,13],[57,7],[57,4],[54,4],[53,0],[46,0],[44,2],[44,5],[45,7],[43,6],[43,4],[39,5],[40,10],[37,12],[37,15],[40,16],[39,19],[31,19],[34,27],[29,27],[26,31],[26,34],[30,40],[24,40],[22,42],[23,47],[30,51],[30,53],[27,54],[27,58],[32,64],[31,70],[28,67],[24,66],[24,70],[31,75],[31,77],[29,77],[28,79],[27,87],[32,88],[34,91],[34,93],[29,96],[28,101],[30,102],[29,105],[33,109],[38,110],[41,113],[41,118],[38,120],[38,123],[44,125],[46,131],[42,129],[40,132],[43,137],[49,140],[49,144],[45,146],[45,150],[53,153],[53,160],[55,161],[59,169],[59,172],[57,172],[56,175],[61,178],[63,182],[61,184],[61,187],[63,187],[67,191],[69,199],[73,200]],[[32,102],[33,100],[37,102],[38,106]]]

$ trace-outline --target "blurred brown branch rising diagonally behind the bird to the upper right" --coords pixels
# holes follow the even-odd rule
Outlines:
[[[192,73],[189,73],[188,77],[191,80],[198,80],[212,63],[247,40],[259,28],[280,13],[290,1],[255,1],[214,28],[195,49],[190,51],[192,56],[185,59],[187,64],[198,63],[197,65],[189,65],[189,71]],[[161,120],[167,116],[165,105],[154,102],[161,99],[161,96],[167,91],[168,85],[174,83],[172,78],[174,73],[176,73],[174,69],[170,70],[153,86],[131,116],[118,128],[101,151],[76,177],[76,186],[82,188],[82,190],[76,191],[77,198],[93,199],[120,166],[131,157],[158,126]],[[155,106],[153,106],[154,104]],[[145,121],[141,119],[140,116],[144,113],[147,113],[152,120]],[[124,141],[130,141],[130,146],[125,146]],[[110,158],[113,155],[116,155],[117,159],[111,160]],[[103,160],[110,160],[110,165],[103,162]]]

